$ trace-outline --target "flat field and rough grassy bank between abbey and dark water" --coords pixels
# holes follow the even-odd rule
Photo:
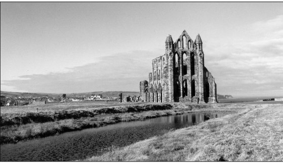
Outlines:
[[[48,104],[1,108],[1,144],[101,127],[120,121],[183,114],[190,110],[226,110],[226,105],[185,103]],[[61,108],[61,109],[60,109]]]

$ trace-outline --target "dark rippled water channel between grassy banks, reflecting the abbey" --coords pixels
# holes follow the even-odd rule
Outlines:
[[[189,113],[117,123],[17,144],[1,145],[1,161],[69,161],[99,155],[112,145],[127,146],[170,130],[201,123],[224,113]]]

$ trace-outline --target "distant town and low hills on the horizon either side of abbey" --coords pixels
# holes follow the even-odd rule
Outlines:
[[[233,98],[231,95],[217,95],[220,99]],[[17,93],[1,91],[1,106],[43,105],[66,102],[138,102],[139,92],[90,92],[71,94]]]

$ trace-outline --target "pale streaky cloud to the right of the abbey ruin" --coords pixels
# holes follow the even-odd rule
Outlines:
[[[257,35],[253,39],[232,40],[219,47],[207,45],[206,66],[216,78],[218,93],[283,96],[279,91],[283,86],[282,29],[280,15],[252,24],[249,32]]]

